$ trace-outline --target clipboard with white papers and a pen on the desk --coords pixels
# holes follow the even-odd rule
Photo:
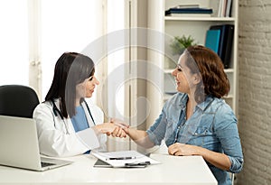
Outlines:
[[[90,154],[98,158],[98,160],[106,162],[113,168],[145,168],[151,164],[161,163],[136,151],[101,153],[92,150]],[[98,166],[96,165],[96,167]]]

